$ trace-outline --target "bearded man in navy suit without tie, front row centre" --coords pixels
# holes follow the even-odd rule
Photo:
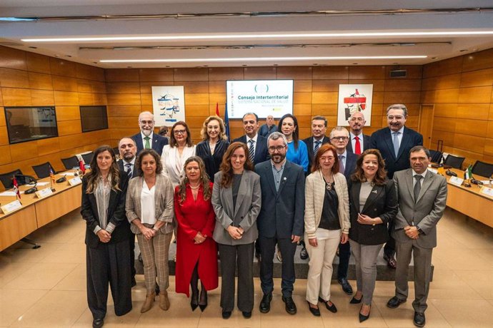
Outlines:
[[[289,314],[296,314],[292,293],[295,280],[294,252],[304,227],[304,171],[299,165],[286,159],[287,140],[279,132],[267,138],[271,160],[255,165],[260,175],[262,207],[257,217],[259,243],[262,254],[260,282],[262,302],[260,312],[271,308],[274,290],[273,257],[277,243],[282,255],[282,301]]]

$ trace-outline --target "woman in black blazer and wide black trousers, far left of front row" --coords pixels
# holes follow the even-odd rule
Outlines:
[[[94,150],[91,172],[82,178],[81,215],[86,220],[87,302],[101,327],[106,315],[108,284],[115,314],[131,310],[129,221],[125,215],[126,173],[120,172],[113,148]]]

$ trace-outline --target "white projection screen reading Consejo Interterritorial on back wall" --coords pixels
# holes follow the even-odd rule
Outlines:
[[[228,118],[253,112],[259,118],[293,113],[293,80],[226,81]]]

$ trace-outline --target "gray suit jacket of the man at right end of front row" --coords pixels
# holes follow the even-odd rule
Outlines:
[[[414,203],[412,169],[394,173],[399,212],[394,220],[392,237],[397,242],[411,242],[404,227],[417,225],[423,231],[417,245],[423,248],[437,246],[437,223],[447,206],[447,180],[442,175],[427,171],[417,202]]]

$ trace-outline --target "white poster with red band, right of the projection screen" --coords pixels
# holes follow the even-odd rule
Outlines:
[[[362,112],[365,124],[372,124],[373,84],[339,84],[337,125],[347,126],[347,120],[354,112]]]

